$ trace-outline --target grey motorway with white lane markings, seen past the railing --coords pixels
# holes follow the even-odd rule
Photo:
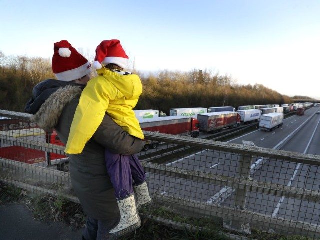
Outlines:
[[[242,141],[251,141],[258,147],[320,155],[320,115],[315,114],[318,110],[318,107],[312,107],[302,116],[286,118],[283,125],[272,132],[256,129],[228,142],[242,144]],[[238,155],[234,153],[204,149],[167,165],[238,177],[237,159]],[[261,167],[251,174],[254,180],[320,190],[320,169],[317,166],[259,157],[254,161],[261,164]],[[153,193],[185,197],[208,204],[234,206],[234,189],[230,187],[148,174]],[[320,204],[299,199],[248,192],[245,207],[254,212],[314,224],[319,224],[320,220]]]

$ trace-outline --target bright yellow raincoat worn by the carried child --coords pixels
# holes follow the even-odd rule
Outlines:
[[[133,108],[142,93],[138,75],[121,75],[105,68],[97,70],[82,91],[65,152],[79,154],[102,122],[105,112],[130,135],[144,139]]]

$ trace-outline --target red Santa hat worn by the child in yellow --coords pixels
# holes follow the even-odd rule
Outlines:
[[[101,69],[101,64],[106,66],[113,63],[125,69],[128,61],[129,57],[125,54],[119,40],[104,40],[96,47],[93,68]]]

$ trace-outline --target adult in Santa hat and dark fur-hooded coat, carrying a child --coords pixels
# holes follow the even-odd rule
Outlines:
[[[54,128],[66,144],[74,112],[82,89],[89,81],[90,64],[69,42],[54,43],[52,70],[57,80],[48,79],[36,85],[26,112],[32,121],[46,131]],[[140,139],[130,136],[105,115],[81,154],[69,155],[72,187],[87,215],[83,239],[111,239],[109,231],[120,220],[114,190],[108,177],[104,148],[131,155],[143,148]]]

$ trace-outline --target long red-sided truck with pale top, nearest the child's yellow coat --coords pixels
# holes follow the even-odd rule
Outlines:
[[[163,116],[139,120],[140,127],[144,131],[155,131],[172,135],[197,137],[199,135],[199,121],[194,117]],[[158,142],[145,141],[143,150],[156,148]]]

